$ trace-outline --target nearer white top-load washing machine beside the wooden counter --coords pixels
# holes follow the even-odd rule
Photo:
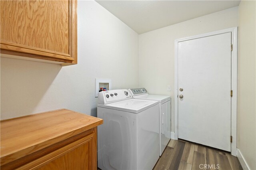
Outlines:
[[[159,158],[158,101],[133,99],[127,89],[98,94],[98,167],[150,170]]]

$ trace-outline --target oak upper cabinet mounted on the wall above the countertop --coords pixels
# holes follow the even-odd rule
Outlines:
[[[77,63],[76,0],[1,0],[0,6],[1,53]]]

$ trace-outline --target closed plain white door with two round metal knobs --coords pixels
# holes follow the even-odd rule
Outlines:
[[[231,151],[230,90],[231,33],[178,42],[178,138]]]

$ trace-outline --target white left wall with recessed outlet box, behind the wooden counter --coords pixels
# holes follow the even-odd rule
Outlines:
[[[95,1],[77,11],[77,65],[1,57],[1,119],[61,108],[96,116],[95,78],[138,87],[138,34]]]

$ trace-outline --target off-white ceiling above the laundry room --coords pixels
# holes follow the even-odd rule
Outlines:
[[[96,0],[138,34],[238,6],[240,0]]]

